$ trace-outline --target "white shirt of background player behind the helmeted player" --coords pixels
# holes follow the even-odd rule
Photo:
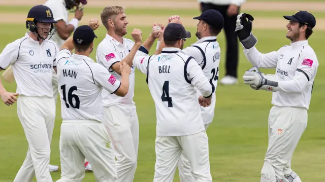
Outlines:
[[[68,24],[69,13],[66,9],[66,2],[64,2],[64,0],[48,0],[44,6],[47,6],[51,9],[55,21],[63,20],[66,22],[66,24]],[[51,37],[51,41],[53,41],[58,48],[61,48],[65,40],[61,39],[56,31],[55,34]]]

